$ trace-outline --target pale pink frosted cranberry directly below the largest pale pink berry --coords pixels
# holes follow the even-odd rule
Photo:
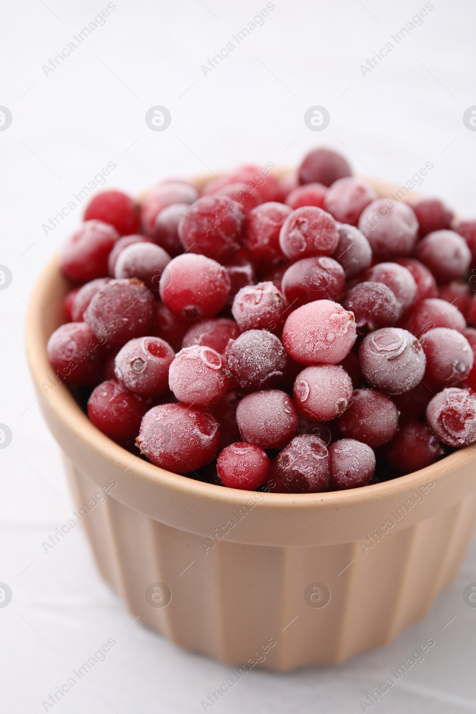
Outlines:
[[[336,364],[306,367],[294,383],[299,411],[315,421],[329,421],[342,414],[352,392],[350,376]]]

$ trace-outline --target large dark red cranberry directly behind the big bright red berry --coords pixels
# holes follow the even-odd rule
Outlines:
[[[178,223],[187,251],[228,263],[243,245],[245,214],[228,196],[203,196]]]

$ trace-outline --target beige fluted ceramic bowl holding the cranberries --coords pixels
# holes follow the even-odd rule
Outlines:
[[[236,491],[163,471],[98,431],[55,378],[46,343],[69,289],[54,258],[31,298],[29,365],[76,521],[139,622],[242,671],[284,671],[375,649],[426,615],[470,542],[476,446],[333,493]]]

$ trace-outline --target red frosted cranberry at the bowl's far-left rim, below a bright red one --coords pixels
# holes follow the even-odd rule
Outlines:
[[[88,283],[108,274],[108,255],[118,234],[101,221],[86,221],[61,248],[59,264],[67,278]]]

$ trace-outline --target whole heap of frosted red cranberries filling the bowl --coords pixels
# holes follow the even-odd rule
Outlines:
[[[378,198],[329,149],[279,179],[105,191],[61,251],[48,354],[98,429],[168,471],[366,486],[476,441],[473,265],[476,220]]]

